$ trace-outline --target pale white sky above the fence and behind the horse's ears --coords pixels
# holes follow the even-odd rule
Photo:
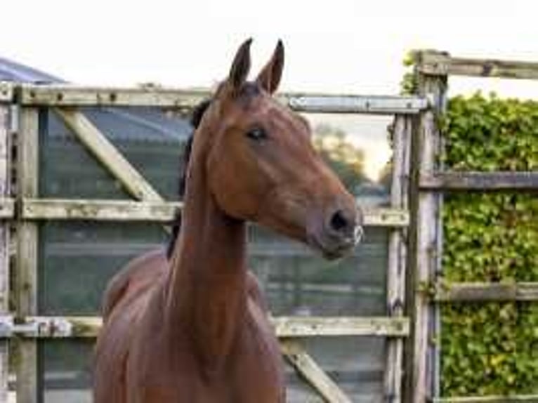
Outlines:
[[[538,1],[532,0],[2,3],[0,56],[77,84],[213,86],[247,37],[254,38],[253,74],[277,39],[284,41],[284,91],[395,94],[402,60],[416,48],[538,61]],[[478,89],[538,99],[538,81],[450,80],[450,94]],[[324,119],[367,150],[374,178],[390,155],[386,120]]]

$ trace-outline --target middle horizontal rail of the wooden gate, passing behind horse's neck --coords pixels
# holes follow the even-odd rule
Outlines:
[[[22,199],[25,220],[100,220],[157,221],[173,220],[178,202],[134,202],[98,199]],[[409,214],[400,209],[365,209],[365,225],[370,227],[405,227]]]

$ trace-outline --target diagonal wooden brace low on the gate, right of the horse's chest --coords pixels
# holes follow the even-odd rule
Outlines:
[[[349,397],[320,368],[299,341],[283,340],[280,343],[284,357],[298,374],[329,403],[351,403]]]

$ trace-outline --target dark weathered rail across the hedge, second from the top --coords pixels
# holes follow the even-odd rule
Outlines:
[[[426,190],[538,190],[538,171],[422,173],[420,186]]]

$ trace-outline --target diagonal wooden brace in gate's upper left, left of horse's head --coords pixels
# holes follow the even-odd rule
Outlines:
[[[138,200],[162,201],[150,183],[84,114],[73,109],[56,109],[55,112],[100,164],[124,185],[129,194]]]

